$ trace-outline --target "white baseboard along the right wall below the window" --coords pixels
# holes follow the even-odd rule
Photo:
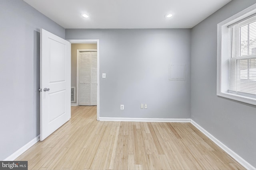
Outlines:
[[[218,139],[216,139],[214,136],[212,136],[208,131],[206,131],[204,128],[202,128],[200,125],[198,125],[195,121],[191,119],[192,125],[194,125],[198,130],[200,130],[204,135],[206,135],[208,138],[210,138],[216,145],[218,145],[221,149],[223,149],[227,154],[229,154],[234,160],[236,160],[238,163],[240,163],[244,168],[247,170],[256,170],[254,166],[252,166],[250,163],[248,163],[246,160],[244,160],[241,156],[236,154],[233,150],[229,149],[226,145],[224,145],[222,142],[220,142]]]

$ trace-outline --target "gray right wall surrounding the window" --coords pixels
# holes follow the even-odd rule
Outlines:
[[[192,28],[191,118],[256,167],[256,106],[216,96],[217,23],[254,3],[232,0]]]

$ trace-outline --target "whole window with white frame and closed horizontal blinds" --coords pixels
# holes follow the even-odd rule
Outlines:
[[[217,95],[256,105],[256,5],[218,24]]]

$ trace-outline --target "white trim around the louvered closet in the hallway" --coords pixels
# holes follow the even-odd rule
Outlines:
[[[90,50],[90,49],[77,49],[76,50],[76,106],[79,106],[79,83],[80,83],[80,79],[79,79],[79,59],[80,59],[80,56],[79,56],[79,52],[97,52],[98,53],[98,50],[96,49],[93,49],[93,50]],[[97,59],[98,59],[98,54],[97,54]],[[98,60],[97,60],[97,76],[98,76]],[[97,83],[98,83],[98,78],[97,78]],[[98,87],[98,86],[97,86]],[[98,90],[98,89],[97,89]],[[98,94],[98,93],[97,93]],[[97,96],[97,99],[98,99],[98,96]],[[97,102],[98,104],[98,102]]]

